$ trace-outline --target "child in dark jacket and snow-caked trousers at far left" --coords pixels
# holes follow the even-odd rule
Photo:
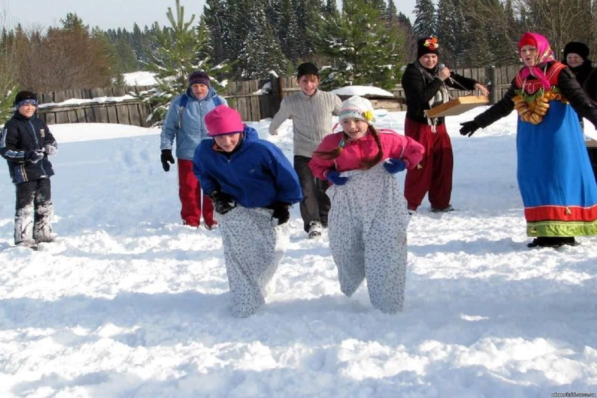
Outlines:
[[[57,145],[48,126],[37,118],[37,96],[20,91],[14,100],[16,112],[4,125],[0,155],[7,160],[8,171],[16,186],[14,244],[35,247],[39,242],[53,242],[50,177],[54,175],[48,156],[56,155]]]

